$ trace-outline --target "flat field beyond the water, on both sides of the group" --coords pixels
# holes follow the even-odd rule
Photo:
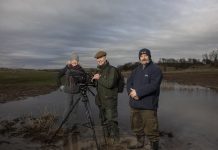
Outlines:
[[[125,76],[129,72],[124,73]],[[54,91],[57,72],[52,70],[1,69],[0,103],[24,99]],[[200,85],[218,90],[218,69],[164,72],[164,80],[187,85]]]

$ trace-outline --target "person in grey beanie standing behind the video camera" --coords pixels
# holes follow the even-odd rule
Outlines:
[[[61,78],[65,76],[65,83],[61,82]],[[67,65],[60,70],[58,74],[58,86],[60,90],[67,93],[66,107],[63,115],[63,119],[66,118],[69,111],[73,108],[75,102],[82,96],[79,90],[79,83],[84,82],[86,79],[86,74],[83,68],[79,65],[79,56],[73,52],[70,61]],[[70,114],[67,122],[64,123],[64,131],[66,134],[70,131],[75,131],[77,129],[77,109],[78,104],[74,107],[74,111]],[[62,120],[63,120],[62,119]]]

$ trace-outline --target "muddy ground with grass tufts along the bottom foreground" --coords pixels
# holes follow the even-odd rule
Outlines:
[[[95,150],[96,143],[92,137],[92,131],[79,126],[78,130],[64,134],[61,129],[57,131],[56,117],[52,114],[44,114],[39,118],[23,116],[13,120],[1,120],[0,122],[0,149],[1,150]],[[112,144],[107,139],[105,144],[102,136],[102,128],[95,127],[97,142],[101,150],[125,150],[127,145],[135,142],[134,136],[121,134],[120,143]],[[161,132],[160,147],[165,150],[173,150],[180,144],[178,141],[170,144],[174,136],[172,133]],[[52,139],[52,140],[51,140]],[[147,140],[145,140],[147,143]],[[144,147],[149,150],[149,144]]]

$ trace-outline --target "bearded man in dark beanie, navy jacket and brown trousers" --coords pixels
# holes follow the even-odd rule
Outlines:
[[[129,104],[131,107],[131,128],[137,138],[137,143],[128,145],[128,148],[143,148],[146,135],[152,150],[158,150],[157,108],[162,72],[152,62],[150,50],[141,49],[139,60],[140,65],[133,70],[127,80],[127,92],[130,96]]]

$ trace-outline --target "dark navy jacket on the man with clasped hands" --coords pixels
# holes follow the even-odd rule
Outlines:
[[[130,93],[131,88],[135,89],[139,100],[130,97],[130,106],[136,109],[157,110],[162,78],[160,68],[152,61],[144,69],[142,64],[134,69],[127,80],[127,93]]]

